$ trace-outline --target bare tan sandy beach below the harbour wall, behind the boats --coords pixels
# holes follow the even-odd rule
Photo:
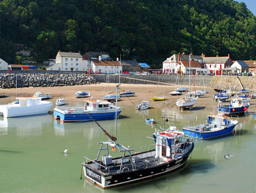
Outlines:
[[[36,91],[42,91],[42,94],[49,93],[52,95],[52,98],[49,101],[53,102],[53,107],[55,107],[55,102],[59,98],[64,98],[67,102],[79,102],[83,106],[83,100],[86,98],[75,98],[75,93],[77,91],[86,91],[90,93],[95,99],[102,99],[108,93],[115,93],[115,83],[97,83],[96,85],[82,85],[82,86],[63,86],[63,87],[24,87],[17,89],[17,96],[32,96]],[[181,87],[189,89],[189,86],[180,85]],[[163,96],[163,91],[165,89],[164,95],[167,96],[165,101],[153,101],[151,96]],[[150,102],[151,108],[167,108],[176,109],[179,111],[179,107],[176,106],[176,100],[181,96],[171,96],[171,91],[174,91],[175,86],[166,86],[166,85],[134,85],[134,84],[121,84],[120,91],[131,90],[135,92],[135,96],[132,97],[123,97],[118,100],[118,105],[121,107],[124,106],[134,106],[134,104],[141,103],[142,100],[148,100]],[[196,87],[196,89],[204,89]],[[204,111],[206,114],[209,114],[214,111],[216,112],[217,102],[213,100],[213,94],[216,93],[212,88],[206,87],[208,90],[205,96],[201,96],[197,99],[196,104],[194,105],[193,110]],[[191,86],[191,90],[195,90]],[[13,102],[16,96],[16,89],[0,89],[0,92],[6,93],[5,98],[0,98],[0,104],[7,104]],[[87,98],[88,99],[88,98]],[[229,100],[228,100],[229,101]],[[256,99],[251,99],[251,106],[249,112],[256,111],[255,105]]]

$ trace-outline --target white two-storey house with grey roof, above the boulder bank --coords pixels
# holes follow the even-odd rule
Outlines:
[[[56,63],[47,66],[47,70],[60,70],[60,71],[85,71],[86,66],[80,53],[73,52],[58,52],[56,55]]]

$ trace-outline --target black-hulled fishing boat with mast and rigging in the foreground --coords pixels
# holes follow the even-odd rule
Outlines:
[[[116,86],[117,92],[118,86]],[[109,140],[98,142],[101,146],[96,159],[86,156],[82,163],[85,178],[101,188],[171,172],[183,166],[193,151],[194,143],[191,139],[184,140],[184,132],[161,128],[155,129],[152,137],[148,137],[154,139],[155,144],[139,148],[130,148],[130,146],[119,144],[116,137],[117,118],[118,114],[115,116],[113,136],[95,121],[109,137]],[[145,147],[147,150],[143,151]],[[109,149],[112,149],[111,154]],[[114,152],[115,149],[119,151]],[[134,153],[132,153],[133,151]],[[114,154],[117,156],[113,157]]]

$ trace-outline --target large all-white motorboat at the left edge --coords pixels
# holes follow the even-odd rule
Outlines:
[[[19,103],[0,105],[0,115],[5,118],[27,115],[47,114],[52,102],[42,101],[39,97],[18,97]]]

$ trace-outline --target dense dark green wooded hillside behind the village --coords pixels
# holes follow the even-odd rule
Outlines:
[[[59,50],[122,54],[154,67],[190,50],[256,60],[255,18],[233,0],[3,0],[0,57],[17,62],[14,45],[24,44],[39,62]]]

